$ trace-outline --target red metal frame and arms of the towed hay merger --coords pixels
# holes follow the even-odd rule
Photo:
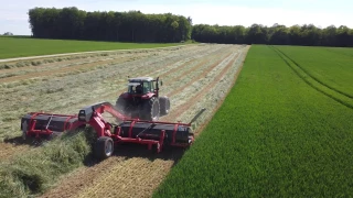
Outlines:
[[[129,133],[129,138],[122,138],[120,135],[121,129],[119,127],[116,128],[117,131],[115,131],[115,133],[111,132],[110,123],[105,121],[103,116],[101,116],[106,111],[109,112],[115,118],[120,119],[122,121],[131,121],[130,129],[129,129],[129,132],[128,132]],[[191,123],[181,123],[181,122],[173,123],[173,122],[160,122],[160,121],[147,121],[147,120],[139,120],[139,119],[131,119],[131,118],[128,118],[128,117],[119,113],[111,106],[108,106],[108,105],[101,105],[98,108],[96,108],[88,122],[84,122],[84,121],[78,121],[77,120],[76,122],[74,122],[73,124],[69,124],[69,125],[67,125],[68,121],[71,119],[77,118],[76,114],[75,116],[67,116],[67,114],[52,114],[52,113],[39,113],[39,112],[31,112],[30,114],[33,114],[33,116],[31,117],[30,124],[29,124],[29,128],[26,130],[26,134],[28,135],[29,134],[35,134],[36,138],[39,138],[40,134],[52,134],[53,133],[53,131],[51,131],[49,129],[34,130],[35,129],[35,123],[36,123],[35,117],[44,114],[44,116],[53,116],[53,117],[67,117],[67,119],[66,119],[66,121],[64,123],[63,131],[74,130],[74,129],[76,129],[76,128],[78,128],[78,127],[81,127],[83,124],[89,124],[96,130],[96,133],[97,133],[98,138],[99,136],[109,136],[115,141],[116,144],[118,144],[118,143],[147,144],[148,145],[148,150],[151,150],[152,145],[157,145],[157,152],[158,153],[161,152],[161,150],[162,150],[162,147],[164,145],[165,130],[161,130],[161,133],[160,133],[160,136],[159,136],[160,138],[159,141],[141,139],[139,136],[132,138],[132,129],[133,129],[133,125],[137,122],[139,122],[139,123],[140,122],[143,122],[143,123],[157,123],[157,124],[173,124],[174,125],[174,131],[173,131],[172,143],[170,144],[171,146],[186,147],[186,146],[189,146],[190,144],[192,144],[194,142],[194,136],[192,135],[190,143],[184,143],[184,144],[175,143],[175,135],[176,135],[178,128],[180,125],[191,127]]]

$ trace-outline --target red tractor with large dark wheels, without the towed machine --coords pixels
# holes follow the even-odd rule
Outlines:
[[[159,77],[137,77],[128,79],[128,90],[116,101],[116,108],[121,114],[140,120],[158,121],[169,113],[170,100],[159,96]],[[161,81],[161,86],[163,82]]]

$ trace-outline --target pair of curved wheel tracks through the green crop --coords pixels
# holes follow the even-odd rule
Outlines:
[[[329,87],[323,86],[322,84],[319,84],[319,81],[314,80],[313,78],[310,78],[310,79],[313,79],[314,82],[318,82],[318,84],[319,84],[319,86],[315,86],[315,85],[313,85],[310,80],[308,80],[307,78],[304,78],[304,77],[300,74],[300,72],[302,72],[302,73],[306,74],[306,75],[308,75],[308,74],[307,74],[306,72],[303,72],[300,67],[297,67],[297,69],[298,69],[298,70],[297,70],[293,66],[291,66],[291,64],[285,58],[284,55],[281,55],[281,54],[278,52],[278,50],[276,50],[276,48],[272,47],[272,46],[269,46],[269,48],[271,48],[271,50],[287,64],[287,66],[289,66],[289,68],[291,68],[291,69],[296,73],[296,75],[297,75],[299,78],[301,78],[306,84],[308,84],[310,87],[312,87],[313,89],[318,90],[319,92],[321,92],[321,94],[330,97],[331,99],[338,101],[339,103],[341,103],[341,105],[343,105],[343,106],[345,106],[345,107],[347,107],[347,108],[350,108],[350,109],[353,109],[353,105],[351,105],[351,103],[349,103],[349,102],[346,102],[346,101],[343,101],[343,100],[341,100],[341,99],[339,99],[339,98],[330,95],[329,92],[325,92],[324,90],[320,89],[319,86],[325,87],[325,88],[328,88],[329,90],[332,90],[332,89],[330,89]],[[288,59],[289,59],[289,58],[288,58]],[[291,61],[291,59],[289,59],[289,61]],[[299,70],[300,70],[300,72],[299,72]],[[309,76],[309,75],[308,75],[308,76]],[[310,77],[310,76],[309,76],[309,77]],[[336,91],[334,91],[334,90],[332,90],[332,91],[335,92],[335,94],[339,94],[339,92],[336,92]],[[340,95],[340,94],[339,94],[339,96],[344,97],[343,95]],[[349,98],[349,99],[350,99],[350,98]]]

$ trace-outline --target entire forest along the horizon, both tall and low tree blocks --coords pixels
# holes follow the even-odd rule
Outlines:
[[[34,8],[29,11],[34,37],[117,42],[204,43],[353,46],[353,30],[347,26],[313,24],[285,26],[192,24],[183,15],[129,12],[86,12],[72,8]]]

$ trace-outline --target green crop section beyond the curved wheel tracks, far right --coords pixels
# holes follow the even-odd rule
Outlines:
[[[353,98],[353,48],[277,47],[323,86]]]

